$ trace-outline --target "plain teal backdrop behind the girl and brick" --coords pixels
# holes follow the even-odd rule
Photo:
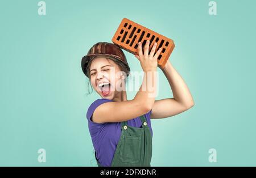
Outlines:
[[[174,39],[170,57],[195,100],[152,121],[152,166],[256,166],[255,1],[0,1],[0,166],[96,166],[81,57],[122,18]],[[137,58],[125,52],[132,71]],[[159,70],[159,96],[170,98]],[[135,92],[128,94],[133,99]],[[38,150],[46,149],[46,163]],[[208,150],[217,150],[217,163]]]

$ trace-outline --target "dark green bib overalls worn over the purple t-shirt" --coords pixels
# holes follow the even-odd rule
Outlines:
[[[150,167],[152,156],[152,135],[147,126],[145,116],[140,116],[142,126],[136,128],[127,125],[127,121],[121,122],[122,134],[111,166],[148,166]],[[96,154],[96,152],[95,152]],[[96,158],[97,160],[97,158]],[[98,163],[98,166],[101,166]]]

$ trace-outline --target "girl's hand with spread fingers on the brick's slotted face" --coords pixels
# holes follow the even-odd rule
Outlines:
[[[141,67],[143,71],[156,71],[158,67],[158,56],[161,53],[162,48],[159,48],[158,51],[155,53],[157,43],[154,43],[150,54],[148,54],[150,41],[147,40],[146,45],[144,46],[144,54],[142,52],[142,44],[139,42],[138,45],[138,54],[135,57],[138,58],[139,62],[141,62]],[[154,55],[155,53],[155,55]]]

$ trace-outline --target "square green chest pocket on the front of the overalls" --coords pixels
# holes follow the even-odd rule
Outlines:
[[[141,137],[123,135],[119,158],[123,162],[138,163],[141,155],[141,145]]]

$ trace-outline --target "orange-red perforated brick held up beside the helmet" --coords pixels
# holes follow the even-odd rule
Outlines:
[[[158,57],[158,64],[160,67],[163,67],[170,57],[172,50],[174,50],[175,45],[173,40],[168,39],[167,37],[143,27],[127,18],[122,19],[122,22],[119,24],[119,27],[112,38],[114,44],[132,54],[138,54],[138,43],[140,41],[142,42],[143,49],[146,44],[146,40],[150,40],[149,50],[151,50],[154,42],[158,43],[156,51],[162,47],[162,52]]]

